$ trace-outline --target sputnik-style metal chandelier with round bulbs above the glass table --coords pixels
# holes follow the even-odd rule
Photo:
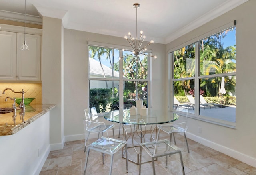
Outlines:
[[[140,8],[140,4],[138,3],[135,3],[133,4],[133,7],[136,8],[136,39],[134,37],[132,37],[131,33],[128,32],[128,35],[130,37],[130,40],[128,39],[127,36],[124,36],[124,39],[126,39],[126,41],[128,41],[128,43],[130,44],[130,46],[132,47],[132,54],[130,55],[134,55],[134,57],[132,58],[132,61],[130,62],[133,63],[134,61],[138,61],[140,58],[139,58],[139,55],[142,54],[142,55],[146,55],[144,52],[147,50],[147,46],[154,43],[153,40],[151,40],[148,44],[146,44],[144,47],[142,47],[142,43],[144,41],[144,39],[146,38],[145,35],[142,36],[143,34],[143,31],[141,30],[140,31],[140,37],[138,38],[138,20],[137,20],[137,8]],[[124,51],[124,49],[123,49]],[[123,59],[125,57],[128,57],[130,55],[126,55],[124,57],[119,57],[119,60],[120,59]],[[152,55],[148,55],[150,57],[153,57],[154,59],[156,59],[156,55],[152,56]],[[130,65],[129,64],[129,65]]]

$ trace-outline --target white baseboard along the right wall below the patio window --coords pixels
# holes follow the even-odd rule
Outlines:
[[[216,151],[219,151],[219,152],[224,153],[230,157],[233,157],[234,159],[237,159],[237,160],[242,161],[248,165],[256,167],[256,159],[253,157],[250,157],[248,155],[245,155],[243,153],[240,153],[240,152],[230,149],[228,147],[222,146],[220,144],[216,144],[210,140],[206,140],[204,138],[201,138],[201,137],[191,134],[189,132],[186,132],[186,136],[187,136],[187,138],[190,138],[191,140],[194,140],[204,146],[208,146]]]

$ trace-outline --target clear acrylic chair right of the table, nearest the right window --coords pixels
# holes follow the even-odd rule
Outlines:
[[[188,149],[188,141],[186,137],[186,131],[188,129],[188,109],[186,108],[176,108],[176,113],[179,114],[179,119],[175,121],[173,124],[166,124],[162,125],[161,129],[162,131],[166,132],[167,134],[170,134],[170,141],[172,141],[172,135],[174,138],[174,144],[176,144],[174,133],[184,133],[184,138],[186,140],[187,149]],[[189,153],[189,149],[188,149]]]

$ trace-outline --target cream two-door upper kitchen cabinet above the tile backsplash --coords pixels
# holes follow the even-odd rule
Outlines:
[[[24,33],[0,31],[0,80],[41,79],[41,36],[26,34],[28,51],[23,42]]]

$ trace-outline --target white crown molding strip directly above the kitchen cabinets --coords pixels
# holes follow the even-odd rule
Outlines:
[[[24,22],[24,14],[0,10],[0,19]],[[42,18],[26,14],[26,23],[42,25]]]

